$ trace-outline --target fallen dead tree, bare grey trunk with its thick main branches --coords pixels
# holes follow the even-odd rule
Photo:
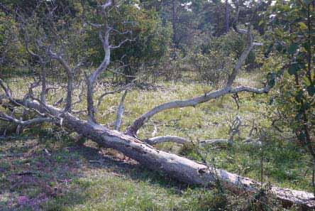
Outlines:
[[[96,109],[94,109],[94,86],[99,75],[108,69],[111,58],[111,50],[114,48],[119,48],[121,45],[123,45],[123,43],[126,43],[126,41],[129,40],[123,40],[121,43],[118,43],[118,45],[111,45],[110,43],[110,34],[114,32],[114,28],[109,26],[108,18],[109,12],[114,9],[114,7],[115,5],[111,0],[107,0],[104,4],[99,4],[97,10],[98,13],[101,14],[102,23],[88,23],[87,21],[90,26],[96,28],[98,31],[99,39],[101,40],[104,50],[104,60],[98,67],[96,67],[94,71],[92,71],[90,74],[86,74],[87,120],[79,119],[79,117],[77,117],[72,111],[72,78],[75,74],[74,70],[78,65],[73,65],[73,67],[70,66],[65,58],[62,58],[62,55],[55,53],[50,48],[50,46],[41,46],[41,48],[45,48],[45,53],[48,57],[61,63],[67,75],[67,97],[65,99],[65,107],[62,108],[52,106],[45,100],[45,94],[47,94],[45,87],[45,77],[41,77],[40,82],[38,83],[38,85],[42,85],[40,91],[41,97],[36,97],[35,94],[30,91],[26,93],[23,99],[16,99],[13,97],[14,95],[9,86],[6,85],[3,80],[0,80],[0,87],[2,90],[1,104],[9,104],[10,107],[16,107],[26,110],[27,112],[33,112],[36,116],[34,119],[21,120],[14,117],[14,115],[7,114],[6,112],[0,112],[0,119],[22,126],[31,126],[33,124],[39,124],[43,122],[56,124],[62,128],[67,128],[69,131],[77,132],[77,134],[95,141],[100,146],[114,148],[117,151],[123,153],[125,156],[138,161],[138,163],[143,165],[145,168],[167,173],[171,177],[181,180],[185,183],[211,186],[215,185],[216,180],[219,179],[226,188],[233,191],[234,193],[255,193],[255,191],[259,190],[261,184],[255,180],[244,178],[243,176],[236,175],[234,173],[228,173],[227,171],[219,168],[214,168],[211,166],[209,167],[204,163],[192,161],[188,158],[177,156],[173,153],[158,150],[157,148],[154,148],[148,144],[150,141],[145,143],[136,136],[137,131],[149,119],[151,119],[157,113],[167,112],[168,109],[196,107],[198,104],[209,102],[211,99],[216,99],[225,94],[233,94],[238,92],[250,92],[255,94],[267,93],[270,90],[268,85],[262,88],[245,86],[233,87],[233,82],[236,80],[238,72],[241,70],[241,66],[248,57],[250,50],[253,50],[255,45],[260,45],[260,43],[254,42],[253,35],[251,33],[251,27],[249,26],[248,30],[245,31],[247,36],[247,46],[243,50],[241,57],[238,59],[238,62],[231,71],[228,81],[223,88],[213,92],[207,92],[202,96],[194,97],[192,99],[177,100],[160,104],[138,117],[138,119],[136,119],[133,124],[128,127],[126,132],[123,133],[121,131],[109,129],[106,126],[97,124],[95,118]],[[40,41],[38,44],[40,45]],[[42,55],[35,54],[31,52],[31,50],[28,51],[35,57],[42,57]],[[45,68],[43,68],[42,74],[45,75]],[[33,90],[33,87],[30,87],[30,90]],[[121,99],[121,103],[123,103],[123,99]],[[117,114],[116,129],[119,128],[119,122],[121,121],[122,117],[122,109],[123,106],[120,107],[120,111],[118,111]],[[182,143],[184,140],[183,138],[176,136],[162,136],[151,138],[151,143],[153,142],[154,144],[158,139],[175,141],[179,143]],[[306,208],[315,207],[314,195],[311,193],[306,193],[299,190],[289,190],[286,188],[277,188],[275,186],[272,186],[268,192],[287,205],[296,204],[302,205]]]

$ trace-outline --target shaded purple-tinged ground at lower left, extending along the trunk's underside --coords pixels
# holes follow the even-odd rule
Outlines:
[[[67,210],[84,204],[90,200],[88,187],[74,183],[87,170],[172,188],[175,194],[187,188],[113,150],[55,145],[49,139],[0,140],[0,210]]]

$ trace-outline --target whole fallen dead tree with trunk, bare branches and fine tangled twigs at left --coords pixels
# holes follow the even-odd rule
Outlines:
[[[236,193],[255,193],[257,190],[260,189],[260,184],[256,182],[255,180],[251,180],[250,178],[244,178],[241,175],[236,175],[233,173],[228,173],[227,171],[218,169],[218,168],[211,168],[209,166],[206,166],[203,163],[198,163],[196,161],[189,160],[188,158],[183,158],[181,156],[177,156],[172,153],[167,153],[165,151],[157,150],[156,148],[153,148],[153,146],[150,146],[149,144],[145,144],[143,141],[140,141],[136,137],[137,131],[143,126],[150,118],[152,118],[155,114],[158,114],[160,112],[164,112],[168,109],[175,109],[175,108],[182,108],[182,107],[195,107],[198,104],[209,102],[211,99],[216,99],[218,97],[222,97],[226,94],[235,94],[238,92],[251,92],[254,94],[263,94],[267,93],[270,90],[270,82],[271,84],[275,83],[275,78],[268,78],[267,83],[265,84],[265,87],[258,89],[253,87],[233,87],[233,82],[236,79],[236,76],[238,75],[238,72],[240,72],[242,64],[245,62],[245,59],[248,58],[248,55],[251,50],[253,50],[253,47],[255,45],[260,45],[260,43],[255,43],[252,31],[251,24],[248,24],[248,30],[242,31],[242,33],[247,34],[247,45],[243,50],[243,53],[241,53],[240,58],[236,62],[236,65],[233,67],[233,70],[231,70],[231,74],[228,75],[228,80],[226,82],[225,87],[223,87],[221,90],[215,90],[214,92],[206,92],[204,95],[199,97],[193,97],[192,99],[185,99],[185,100],[175,100],[173,102],[165,102],[163,104],[158,105],[157,107],[154,107],[150,111],[146,112],[145,114],[142,114],[138,119],[133,121],[133,124],[128,127],[126,133],[123,134],[119,131],[110,130],[104,126],[101,126],[96,123],[95,119],[95,112],[96,109],[94,108],[94,87],[96,85],[96,82],[101,74],[103,74],[109,67],[109,64],[111,62],[111,50],[121,47],[123,43],[126,43],[127,41],[131,41],[130,38],[125,38],[124,40],[114,40],[114,42],[111,42],[110,38],[114,37],[115,34],[125,34],[131,36],[131,31],[122,31],[119,32],[115,30],[114,26],[111,26],[111,22],[109,21],[110,17],[110,11],[115,11],[118,9],[118,6],[120,4],[115,4],[112,0],[106,0],[103,1],[103,3],[99,2],[98,4],[95,4],[95,7],[92,7],[92,5],[86,5],[82,1],[82,21],[84,21],[84,25],[89,25],[91,28],[95,28],[99,35],[99,40],[101,41],[101,47],[104,50],[104,58],[101,61],[101,63],[96,67],[95,70],[92,70],[90,74],[88,74],[86,71],[84,72],[85,78],[86,78],[86,85],[87,85],[87,114],[89,121],[84,121],[82,119],[78,119],[77,117],[74,117],[70,112],[72,111],[72,106],[77,102],[73,101],[73,83],[74,79],[80,78],[79,72],[77,72],[77,68],[81,65],[80,63],[74,64],[74,61],[72,60],[66,60],[63,58],[63,55],[67,55],[66,52],[62,52],[65,46],[59,45],[57,43],[60,43],[61,38],[71,37],[73,35],[77,34],[64,34],[64,31],[62,30],[62,34],[58,34],[58,32],[53,33],[54,36],[51,36],[51,33],[45,34],[46,30],[45,27],[42,28],[42,24],[37,24],[35,22],[35,25],[33,23],[34,17],[38,16],[38,11],[33,13],[34,15],[30,16],[28,18],[23,18],[20,14],[16,13],[16,16],[18,16],[18,20],[21,24],[18,24],[21,28],[21,33],[25,35],[24,45],[26,47],[26,51],[31,55],[32,58],[36,58],[36,61],[39,61],[39,64],[42,67],[41,70],[41,77],[39,79],[39,82],[34,82],[28,87],[28,93],[24,93],[23,100],[16,100],[13,99],[13,95],[11,93],[11,89],[9,89],[9,86],[5,85],[4,82],[0,79],[0,88],[4,90],[4,94],[0,94],[0,100],[2,98],[9,99],[9,102],[13,104],[15,107],[22,107],[24,111],[29,112],[35,112],[36,118],[32,119],[30,121],[23,121],[23,119],[17,119],[13,115],[13,111],[11,111],[11,116],[8,114],[5,114],[4,112],[0,112],[0,120],[3,121],[9,121],[13,122],[14,124],[18,124],[21,126],[28,126],[33,123],[38,122],[53,122],[54,124],[58,124],[61,128],[65,127],[70,131],[75,131],[79,135],[84,136],[88,139],[92,139],[92,141],[95,141],[100,146],[105,146],[107,148],[114,148],[124,155],[133,158],[134,160],[138,161],[142,166],[146,168],[150,168],[153,171],[160,171],[163,173],[167,173],[168,175],[172,176],[173,178],[177,178],[177,180],[182,180],[185,183],[189,184],[195,184],[195,185],[215,185],[218,180],[221,181],[221,183],[228,188],[228,190],[231,190]],[[85,9],[91,8],[91,14],[96,15],[94,20],[101,21],[100,23],[91,23],[89,21],[89,18],[85,16],[84,11]],[[53,8],[51,8],[53,10]],[[17,10],[18,11],[18,10]],[[40,9],[41,11],[41,9]],[[44,11],[46,11],[44,9]],[[50,11],[50,8],[48,6],[48,11]],[[41,14],[41,13],[39,13]],[[42,15],[40,15],[42,16]],[[90,17],[92,18],[92,17]],[[35,18],[37,20],[37,18]],[[53,18],[43,19],[43,21],[48,21],[48,23],[53,24]],[[30,21],[28,25],[28,21]],[[42,21],[42,19],[38,19],[38,21]],[[110,23],[109,23],[110,22]],[[38,22],[41,23],[41,22]],[[86,23],[86,24],[85,24]],[[115,21],[114,21],[115,23]],[[113,23],[113,24],[114,24]],[[29,27],[26,27],[29,26]],[[55,27],[55,26],[54,26]],[[125,27],[128,28],[128,27]],[[33,36],[33,38],[29,38],[29,31],[31,30],[40,30],[43,29],[43,38],[44,37],[52,37],[52,40],[42,39],[39,38],[37,33]],[[239,30],[238,30],[239,31]],[[55,36],[55,33],[57,33],[57,36]],[[33,33],[31,33],[33,34]],[[40,33],[41,34],[41,33]],[[53,38],[56,38],[56,40],[53,40]],[[66,38],[67,39],[67,38]],[[35,42],[31,40],[36,40]],[[45,40],[45,42],[42,42],[41,40]],[[46,42],[47,40],[47,42]],[[51,42],[51,43],[50,43]],[[111,45],[111,43],[117,43],[118,45]],[[57,44],[57,46],[55,46]],[[34,48],[33,46],[34,45]],[[31,47],[31,48],[30,48]],[[33,52],[35,50],[36,52]],[[70,54],[69,54],[70,55]],[[50,59],[48,59],[50,58]],[[71,58],[71,56],[70,56]],[[57,109],[56,107],[59,106],[62,102],[62,100],[58,101],[55,106],[51,107],[49,105],[46,105],[46,95],[47,94],[47,87],[46,87],[46,65],[48,64],[48,61],[50,60],[57,60],[61,64],[60,67],[64,69],[64,72],[67,75],[67,97],[65,99],[65,108]],[[52,72],[55,73],[55,72]],[[81,75],[82,76],[82,75]],[[126,75],[127,76],[127,75]],[[128,77],[128,76],[127,76]],[[40,90],[40,99],[38,97],[34,96],[33,89],[35,87],[38,87],[41,85]],[[18,92],[21,92],[22,90],[16,90]],[[35,91],[35,90],[34,90]],[[20,93],[21,94],[21,93]],[[101,102],[102,97],[104,97],[104,94],[99,97],[99,103]],[[29,100],[29,99],[36,99],[36,100]],[[79,97],[79,101],[81,101],[81,98]],[[123,99],[122,99],[123,102]],[[1,102],[0,102],[1,104]],[[10,107],[9,107],[10,108]],[[119,128],[119,121],[122,117],[122,104],[120,112],[117,114],[117,124],[116,128]],[[48,118],[48,119],[46,119]],[[172,139],[173,141],[177,141],[177,143],[184,143],[183,139],[177,139],[174,136],[168,136],[167,139]],[[158,139],[151,139],[153,142],[158,141],[165,141],[165,138],[158,138]],[[220,141],[219,141],[220,142]],[[306,193],[304,191],[298,191],[298,190],[289,190],[284,188],[276,188],[272,187],[270,188],[269,192],[272,195],[275,195],[276,198],[281,200],[282,202],[285,202],[289,205],[297,204],[302,205],[307,208],[314,208],[315,207],[315,200],[314,195],[311,193]]]

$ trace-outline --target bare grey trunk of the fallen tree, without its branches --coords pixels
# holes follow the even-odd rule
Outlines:
[[[234,193],[255,193],[260,188],[260,183],[250,178],[229,173],[219,168],[211,168],[204,163],[192,161],[173,153],[160,151],[136,137],[107,129],[92,121],[78,119],[61,109],[43,106],[37,101],[26,102],[26,106],[38,111],[49,112],[51,115],[62,119],[61,126],[76,131],[101,146],[116,149],[138,161],[145,168],[167,173],[167,175],[184,183],[211,186],[215,185],[219,179],[225,188]],[[307,209],[315,207],[314,195],[311,193],[277,187],[271,187],[269,192],[286,205],[296,204]]]

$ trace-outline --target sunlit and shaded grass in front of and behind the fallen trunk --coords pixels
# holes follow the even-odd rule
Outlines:
[[[242,75],[237,82],[259,85],[260,75],[252,77]],[[21,80],[11,87],[26,91]],[[206,85],[192,82],[160,82],[154,90],[132,90],[126,97],[122,130],[162,102],[195,97],[209,90]],[[51,101],[65,94],[62,90],[51,93],[48,97]],[[99,94],[101,91],[96,90],[96,96]],[[96,116],[101,124],[113,126],[120,97],[121,94],[112,94],[104,98]],[[306,162],[310,158],[297,143],[283,141],[269,130],[267,96],[241,93],[239,97],[240,109],[231,96],[225,96],[197,107],[162,112],[140,129],[139,137],[150,138],[156,128],[155,136],[182,136],[194,143],[201,139],[228,138],[228,125],[238,115],[248,126],[241,127],[241,136],[232,146],[205,146],[199,151],[217,168],[260,180],[262,150],[242,144],[255,119],[258,129],[268,131],[263,149],[264,182],[311,192],[311,167]],[[82,109],[84,104],[83,101],[74,109]],[[99,148],[91,141],[78,146],[70,137],[56,131],[52,126],[43,126],[28,129],[16,139],[1,140],[0,210],[253,210],[255,207],[252,200],[238,198],[226,190],[191,187],[167,175],[146,171],[135,161],[116,151]],[[189,145],[167,143],[157,147],[201,161]]]

